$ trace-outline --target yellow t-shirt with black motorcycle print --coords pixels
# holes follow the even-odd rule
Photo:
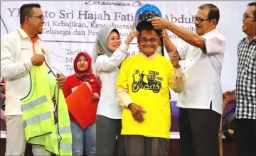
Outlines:
[[[122,135],[169,138],[171,109],[169,86],[172,85],[174,68],[170,60],[161,55],[146,58],[134,55],[122,62],[116,89],[128,89],[134,104],[142,106],[146,113],[138,123],[128,108],[122,113]]]

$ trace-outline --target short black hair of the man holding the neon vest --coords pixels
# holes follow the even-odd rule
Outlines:
[[[23,4],[20,8],[20,23],[25,21],[26,16],[33,16],[33,8],[41,8],[40,4]]]

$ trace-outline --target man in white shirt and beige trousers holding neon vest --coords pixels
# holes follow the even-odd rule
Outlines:
[[[1,77],[6,81],[6,154],[24,155],[26,137],[21,101],[31,89],[29,70],[50,58],[38,34],[43,33],[44,16],[39,4],[24,4],[20,9],[21,28],[1,39]],[[48,74],[48,73],[46,73]],[[65,77],[57,74],[57,85],[63,87]],[[33,155],[50,155],[43,146],[33,145]]]

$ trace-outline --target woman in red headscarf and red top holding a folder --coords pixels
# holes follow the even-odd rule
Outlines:
[[[90,123],[85,129],[83,129],[74,116],[70,113],[70,123],[72,130],[72,153],[73,155],[82,155],[85,147],[86,155],[96,155],[96,110],[97,101],[100,99],[100,87],[97,85],[95,76],[92,74],[91,69],[91,57],[86,52],[79,52],[75,57],[74,70],[75,74],[67,77],[65,86],[63,87],[63,93],[67,98],[82,82],[88,82],[92,89],[92,100],[96,101],[92,103],[95,108],[92,108],[92,114],[85,114],[87,123]],[[85,95],[86,96],[86,95]],[[79,101],[79,99],[78,99]]]

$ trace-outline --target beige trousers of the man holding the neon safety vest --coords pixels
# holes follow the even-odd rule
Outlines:
[[[21,115],[6,116],[6,154],[24,155],[26,148],[26,136]],[[43,146],[32,145],[33,155],[50,156]]]

